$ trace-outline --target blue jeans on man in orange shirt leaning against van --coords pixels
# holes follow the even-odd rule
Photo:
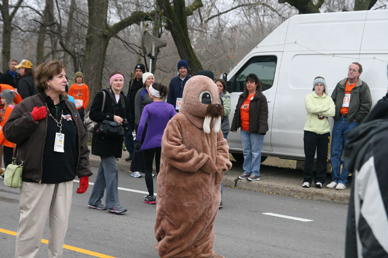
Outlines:
[[[330,155],[331,155],[331,180],[336,183],[343,183],[346,185],[348,182],[349,171],[345,167],[345,162],[342,164],[342,172],[339,174],[339,169],[341,167],[341,155],[343,148],[348,139],[345,136],[345,133],[357,127],[358,123],[352,121],[347,122],[346,117],[339,117],[336,121],[334,120],[333,132],[331,136],[331,146],[330,146]]]

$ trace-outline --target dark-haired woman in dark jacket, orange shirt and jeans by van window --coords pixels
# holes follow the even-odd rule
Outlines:
[[[261,93],[261,82],[255,74],[246,77],[246,88],[237,101],[230,131],[236,133],[241,127],[241,142],[244,154],[239,179],[260,180],[261,148],[268,131],[267,99]]]

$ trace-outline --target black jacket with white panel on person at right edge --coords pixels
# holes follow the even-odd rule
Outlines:
[[[354,175],[346,225],[346,258],[388,257],[388,106],[346,134],[346,167]],[[382,119],[384,118],[384,119]]]

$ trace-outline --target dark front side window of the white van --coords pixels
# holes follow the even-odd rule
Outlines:
[[[232,91],[244,91],[245,79],[249,74],[256,74],[266,91],[274,84],[276,56],[259,56],[249,60],[232,80]]]

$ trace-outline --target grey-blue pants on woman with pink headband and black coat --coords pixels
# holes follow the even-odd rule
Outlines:
[[[106,208],[110,209],[119,204],[117,162],[114,156],[100,158],[100,167],[98,168],[96,181],[94,182],[88,204],[92,206],[100,205],[106,188],[105,204]]]

